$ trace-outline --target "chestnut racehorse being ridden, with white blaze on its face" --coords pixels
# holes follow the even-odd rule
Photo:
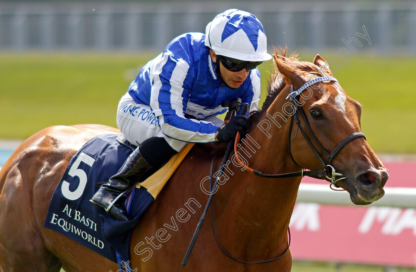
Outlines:
[[[288,226],[302,169],[322,171],[329,178],[334,174],[333,185],[347,190],[358,205],[382,197],[388,179],[360,133],[360,104],[335,79],[318,81],[293,96],[312,78],[333,76],[325,60],[316,55],[313,63],[301,62],[285,54],[286,50],[275,51],[277,69],[266,101],[259,112],[251,114],[249,136],[237,148],[244,163],[261,173],[301,174],[266,179],[244,170],[232,152],[212,198],[219,244],[246,263],[276,258],[288,248]],[[25,140],[9,158],[0,172],[0,271],[118,270],[117,264],[43,227],[70,158],[86,141],[105,133],[119,132],[100,125],[50,127]],[[187,266],[181,265],[208,200],[207,176],[219,149],[224,152],[225,146],[195,145],[151,204],[133,230],[132,271],[291,270],[290,250],[260,264],[244,264],[226,256],[215,242],[210,222],[203,225]],[[221,160],[220,155],[215,157],[214,173]],[[332,173],[323,164],[333,167]],[[208,210],[207,218],[210,214]]]

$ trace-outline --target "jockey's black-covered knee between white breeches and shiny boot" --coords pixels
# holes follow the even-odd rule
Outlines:
[[[151,137],[144,140],[140,146],[140,153],[143,158],[152,166],[159,168],[178,153],[163,137]]]

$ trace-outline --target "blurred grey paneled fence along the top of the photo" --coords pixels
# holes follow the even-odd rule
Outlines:
[[[365,25],[371,50],[416,53],[413,0],[1,1],[0,49],[162,50],[228,8],[255,14],[270,46],[357,49],[350,39]]]

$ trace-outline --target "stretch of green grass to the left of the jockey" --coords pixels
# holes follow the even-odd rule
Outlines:
[[[0,138],[26,138],[52,125],[116,126],[118,100],[148,58],[1,54]]]

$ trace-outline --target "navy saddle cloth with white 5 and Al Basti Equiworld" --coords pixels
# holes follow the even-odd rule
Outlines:
[[[72,157],[53,193],[45,227],[117,263],[117,253],[130,259],[132,229],[154,197],[144,187],[134,188],[124,197],[127,222],[115,220],[89,202],[99,188],[97,182],[108,181],[133,151],[118,143],[116,137],[106,134],[92,138]]]

